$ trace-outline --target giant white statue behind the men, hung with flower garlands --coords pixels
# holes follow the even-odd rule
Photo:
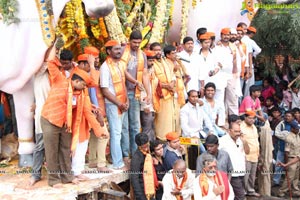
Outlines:
[[[114,8],[113,0],[82,0],[89,16],[108,15]],[[45,0],[18,0],[19,23],[10,25],[0,20],[0,90],[13,94],[19,134],[19,165],[30,166],[34,148],[33,113],[34,103],[32,77],[44,61],[48,49],[41,29],[41,10],[36,2]],[[69,0],[52,0],[54,24]]]

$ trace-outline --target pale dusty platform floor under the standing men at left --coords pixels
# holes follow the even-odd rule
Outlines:
[[[120,170],[113,173],[97,173],[87,169],[90,180],[78,185],[64,184],[63,188],[52,188],[47,184],[46,170],[42,170],[42,180],[34,186],[29,186],[30,168],[18,167],[18,160],[9,162],[9,165],[0,164],[0,200],[94,200],[102,188],[110,187],[111,182],[117,184],[128,180],[128,174]],[[108,188],[110,189],[110,188]],[[98,192],[94,192],[98,191]],[[81,198],[80,198],[81,197]]]

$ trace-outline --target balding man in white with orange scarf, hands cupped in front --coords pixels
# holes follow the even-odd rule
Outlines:
[[[163,178],[164,194],[162,200],[191,200],[195,175],[186,167],[185,161],[176,160]]]

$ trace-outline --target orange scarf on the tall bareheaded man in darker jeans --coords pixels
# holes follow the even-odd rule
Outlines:
[[[124,53],[122,55],[122,60],[126,62],[126,65],[128,65],[128,62],[131,58],[131,53],[130,53],[130,46],[127,45],[125,47]],[[145,61],[144,61],[144,55],[140,49],[137,50],[137,75],[136,75],[136,80],[140,83],[143,82],[143,71],[144,71],[144,66],[145,66]],[[127,68],[127,66],[126,66]],[[141,99],[141,91],[138,89],[138,87],[135,87],[135,98],[140,100]]]

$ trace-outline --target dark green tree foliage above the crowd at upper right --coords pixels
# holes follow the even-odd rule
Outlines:
[[[262,0],[261,3],[276,5],[275,0]],[[252,26],[257,29],[254,40],[262,48],[259,60],[265,68],[265,75],[274,75],[274,59],[277,55],[293,58],[289,63],[293,72],[300,69],[300,62],[297,62],[300,58],[299,1],[295,1],[293,5],[284,4],[281,8],[260,8]],[[296,73],[293,74],[295,75]]]

